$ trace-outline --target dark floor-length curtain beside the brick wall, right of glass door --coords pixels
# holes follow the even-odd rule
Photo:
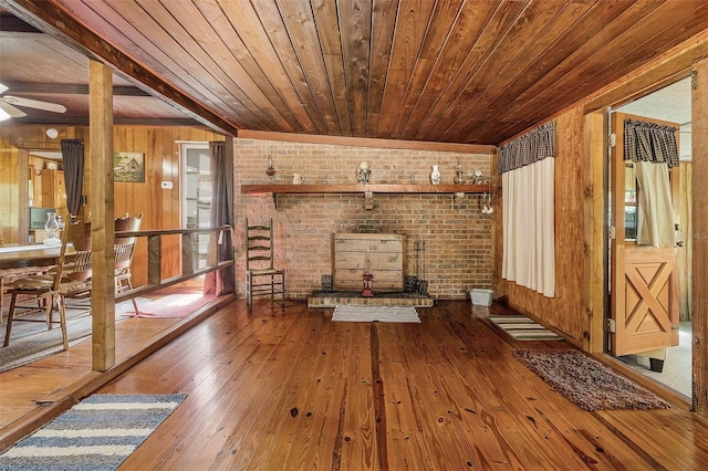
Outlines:
[[[231,139],[227,140],[231,143]],[[209,143],[211,157],[211,226],[233,228],[233,161],[226,155],[225,142]],[[214,241],[209,239],[209,242]],[[211,248],[210,248],[211,249]],[[217,238],[217,262],[233,259],[233,243],[230,232]],[[233,266],[207,273],[204,283],[205,294],[233,293],[236,290]]]

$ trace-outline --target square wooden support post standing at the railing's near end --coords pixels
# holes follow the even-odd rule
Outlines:
[[[94,60],[88,64],[88,95],[93,369],[105,371],[115,365],[113,72]]]

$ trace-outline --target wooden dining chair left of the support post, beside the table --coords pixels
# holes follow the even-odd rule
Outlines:
[[[71,245],[71,247],[70,247]],[[8,289],[10,312],[4,332],[3,347],[10,345],[13,321],[15,318],[18,296],[35,296],[46,304],[49,328],[59,323],[62,329],[64,349],[69,348],[66,336],[66,299],[91,295],[91,222],[66,224],[62,237],[59,261],[53,271],[46,274],[25,276],[17,280]],[[54,303],[59,308],[59,321],[53,320]]]

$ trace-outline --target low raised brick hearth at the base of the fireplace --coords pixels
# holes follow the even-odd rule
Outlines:
[[[374,296],[364,297],[361,291],[315,291],[308,297],[308,307],[336,307],[345,306],[405,306],[405,307],[433,307],[434,300],[417,293],[377,293]]]

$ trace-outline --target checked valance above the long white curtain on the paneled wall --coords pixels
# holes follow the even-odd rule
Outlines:
[[[555,157],[555,122],[543,124],[499,149],[499,172]]]

